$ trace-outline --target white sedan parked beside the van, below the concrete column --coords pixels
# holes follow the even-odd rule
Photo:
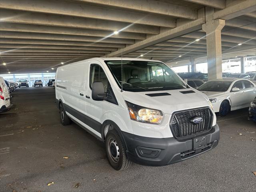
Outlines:
[[[210,80],[198,88],[208,96],[214,112],[226,116],[229,111],[246,108],[256,98],[256,85],[248,79]]]

